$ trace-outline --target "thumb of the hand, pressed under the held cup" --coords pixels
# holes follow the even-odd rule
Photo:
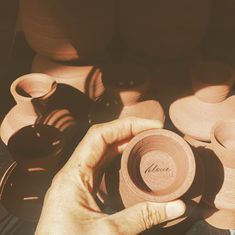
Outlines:
[[[109,216],[120,234],[138,234],[153,225],[175,219],[185,212],[181,200],[154,203],[142,202]]]

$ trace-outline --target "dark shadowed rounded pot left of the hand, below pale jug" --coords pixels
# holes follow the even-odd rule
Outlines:
[[[17,131],[8,141],[8,150],[25,171],[52,171],[64,148],[62,132],[53,126],[35,124]]]

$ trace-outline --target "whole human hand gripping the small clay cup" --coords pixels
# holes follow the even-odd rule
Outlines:
[[[90,128],[48,190],[37,235],[138,234],[185,212],[177,200],[143,202],[112,215],[101,212],[95,195],[103,169],[138,133],[162,128],[159,121],[125,118]]]

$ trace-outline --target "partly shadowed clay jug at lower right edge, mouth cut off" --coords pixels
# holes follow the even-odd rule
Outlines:
[[[235,228],[235,121],[217,122],[211,130],[211,142],[186,137],[206,169],[204,218],[219,229]]]

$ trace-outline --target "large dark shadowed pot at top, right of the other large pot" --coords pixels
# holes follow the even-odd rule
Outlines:
[[[131,52],[172,59],[184,56],[203,39],[210,0],[118,2],[119,32]],[[131,16],[131,17],[130,17]]]

